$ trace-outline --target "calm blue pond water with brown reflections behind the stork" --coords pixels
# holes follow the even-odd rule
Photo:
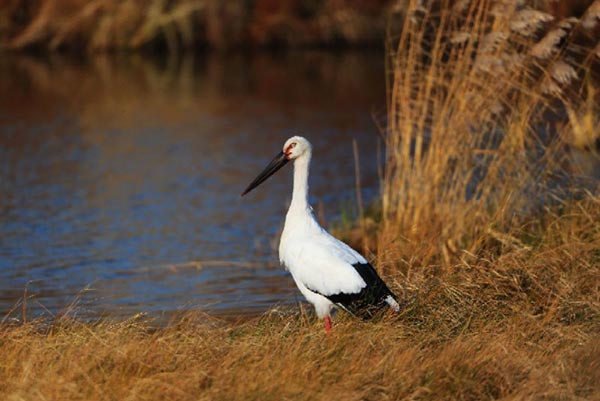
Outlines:
[[[291,168],[240,192],[292,134],[315,146],[313,205],[378,189],[380,53],[0,60],[0,318],[301,300],[277,261]],[[17,310],[14,310],[17,307]]]

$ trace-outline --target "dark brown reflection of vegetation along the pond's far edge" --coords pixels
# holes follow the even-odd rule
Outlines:
[[[68,107],[81,113],[83,120],[92,115],[102,120],[103,111],[117,108],[127,118],[142,102],[149,113],[177,113],[193,107],[226,112],[232,105],[225,103],[225,97],[237,97],[242,104],[267,102],[281,108],[320,104],[324,110],[345,107],[351,112],[363,102],[382,103],[383,77],[373,79],[381,84],[370,87],[358,80],[381,76],[383,55],[373,52],[370,57],[374,62],[365,63],[364,54],[332,56],[318,51],[226,58],[197,54],[86,59],[18,56],[0,62],[0,91],[12,95],[0,104],[16,115],[37,111],[24,107],[31,102],[47,104],[49,114]],[[302,87],[299,80],[305,83]],[[21,95],[23,82],[28,82],[28,91]]]

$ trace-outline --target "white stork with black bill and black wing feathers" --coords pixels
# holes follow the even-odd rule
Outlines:
[[[283,151],[248,185],[242,196],[256,188],[290,160],[294,161],[294,190],[279,243],[279,260],[292,274],[298,289],[325,319],[331,330],[331,311],[338,306],[368,318],[390,307],[399,311],[396,296],[373,266],[354,249],[323,229],[308,203],[311,143],[301,136],[288,139]]]

